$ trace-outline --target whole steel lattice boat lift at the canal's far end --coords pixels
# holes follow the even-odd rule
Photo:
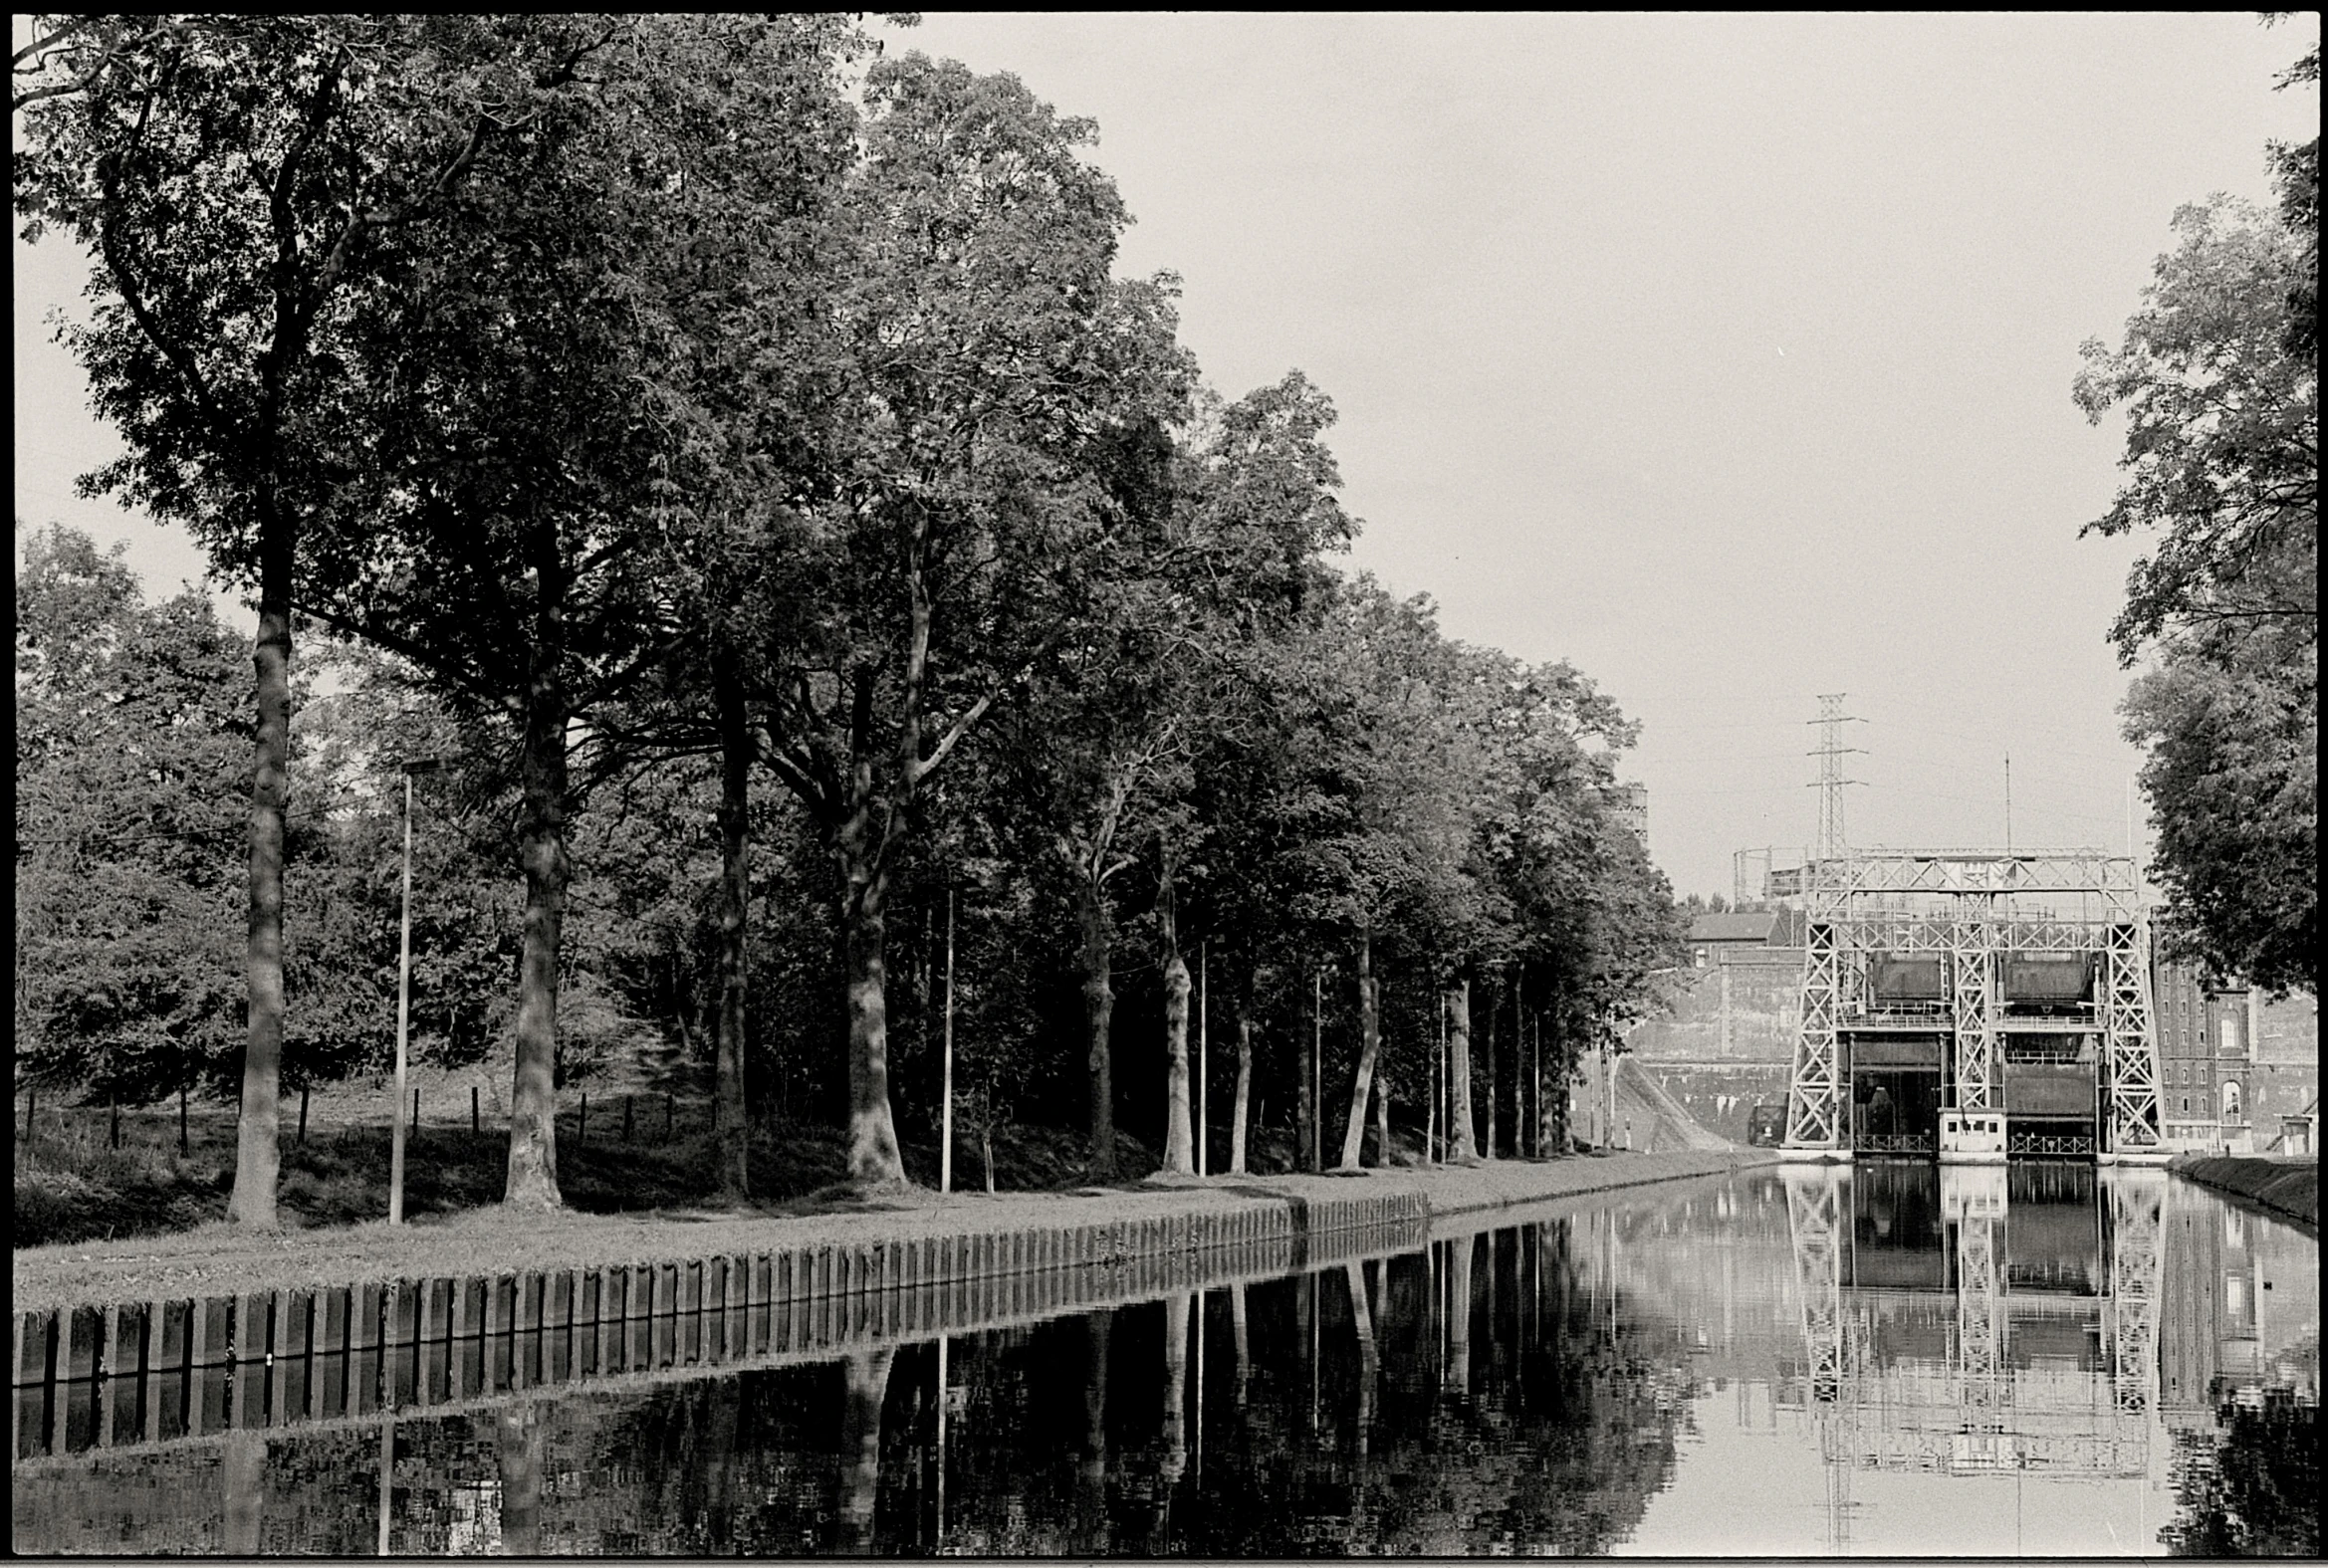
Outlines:
[[[1841,851],[1804,921],[1788,1159],[2165,1163],[2128,856]]]

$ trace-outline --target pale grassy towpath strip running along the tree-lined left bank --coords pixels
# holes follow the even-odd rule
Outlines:
[[[1769,1149],[1676,1149],[1658,1154],[1492,1161],[1471,1168],[1394,1168],[1362,1175],[1152,1177],[1066,1193],[908,1191],[803,1214],[687,1210],[656,1214],[512,1214],[470,1210],[433,1224],[279,1231],[254,1235],[210,1224],[177,1235],[30,1247],[14,1256],[19,1312],[100,1307],[223,1291],[363,1284],[412,1275],[512,1273],[605,1263],[663,1263],[717,1254],[920,1242],[1036,1226],[1094,1226],[1243,1205],[1334,1203],[1418,1193],[1436,1214],[1492,1210],[1539,1198],[1672,1182],[1762,1166]]]

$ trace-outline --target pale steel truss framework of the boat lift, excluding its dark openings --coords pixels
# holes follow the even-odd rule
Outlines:
[[[2016,900],[2039,907],[2021,910]],[[2044,907],[2074,898],[2074,914]],[[1928,1017],[1949,1038],[1946,1100],[2000,1110],[1997,1054],[2002,963],[2014,954],[2091,954],[2102,993],[2105,1154],[2165,1147],[2158,1059],[2151,1035],[2151,933],[2135,863],[2102,849],[2056,851],[1867,851],[1818,861],[1804,875],[1802,1021],[1788,1086],[1786,1147],[1851,1149],[1846,1035],[1855,1024],[1904,1026]],[[1872,1007],[1872,954],[1928,954],[1944,968],[1942,1007]],[[2046,1019],[2049,1028],[2065,1028]]]

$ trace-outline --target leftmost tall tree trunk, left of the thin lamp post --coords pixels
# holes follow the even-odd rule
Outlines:
[[[235,1191],[226,1217],[272,1231],[275,1186],[282,1179],[282,1110],[277,1103],[284,1061],[284,796],[291,756],[291,537],[261,498],[258,640],[251,665],[258,675],[258,744],[251,763],[251,861],[249,935],[244,982],[249,989],[242,1047],[242,1114],[235,1126]]]

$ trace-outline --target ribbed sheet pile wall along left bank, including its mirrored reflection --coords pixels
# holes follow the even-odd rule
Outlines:
[[[21,1461],[379,1419],[528,1387],[819,1361],[1429,1238],[1422,1193],[982,1235],[19,1312]]]

